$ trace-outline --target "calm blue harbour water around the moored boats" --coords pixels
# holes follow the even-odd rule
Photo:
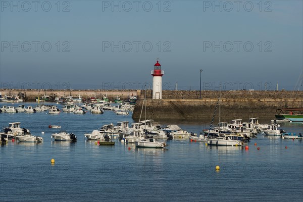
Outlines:
[[[131,115],[109,111],[0,114],[2,128],[21,122],[44,140],[39,144],[10,141],[0,147],[1,201],[302,201],[301,140],[259,135],[245,150],[188,140],[168,141],[167,149],[135,148],[118,140],[108,147],[84,139],[84,133],[117,121],[133,122]],[[209,126],[188,121],[160,124],[178,124],[195,133]],[[48,125],[61,125],[78,141],[52,141],[51,134],[58,129]],[[280,125],[287,132],[303,133],[302,123]]]

